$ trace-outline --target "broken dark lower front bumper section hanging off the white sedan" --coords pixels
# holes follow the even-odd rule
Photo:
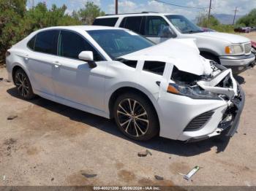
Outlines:
[[[219,135],[232,137],[236,133],[236,130],[238,129],[241,112],[244,109],[244,102],[245,102],[244,90],[241,88],[240,85],[238,85],[238,92],[239,92],[238,97],[230,100],[233,103],[233,108],[232,108],[233,120],[226,123],[219,122],[218,128],[214,131],[214,133],[211,133],[207,136],[193,137],[191,139],[188,139],[187,142],[202,141],[205,139],[209,139],[212,136],[219,136]],[[230,110],[227,109],[226,112],[228,111]],[[223,117],[224,116],[225,114],[223,114]]]

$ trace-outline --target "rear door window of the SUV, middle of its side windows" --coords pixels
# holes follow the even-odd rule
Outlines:
[[[135,31],[136,33],[140,34],[140,26],[142,24],[143,17],[125,17],[120,27],[128,28],[131,31]]]

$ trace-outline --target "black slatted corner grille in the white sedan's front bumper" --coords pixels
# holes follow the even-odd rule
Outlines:
[[[195,117],[193,120],[189,122],[189,124],[184,129],[184,131],[195,130],[203,127],[203,125],[205,125],[206,122],[208,122],[208,120],[211,118],[213,114],[214,114],[213,111],[209,111],[209,112],[205,112],[203,114],[198,115],[197,117]]]

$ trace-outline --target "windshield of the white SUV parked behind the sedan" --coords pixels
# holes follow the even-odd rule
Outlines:
[[[170,23],[182,34],[201,33],[203,30],[181,15],[166,15]]]

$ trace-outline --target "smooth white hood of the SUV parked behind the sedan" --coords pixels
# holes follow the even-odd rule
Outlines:
[[[222,39],[223,41],[236,44],[236,43],[245,43],[250,42],[249,39],[247,39],[244,36],[236,35],[236,34],[227,34],[227,33],[219,33],[219,32],[203,32],[203,33],[197,33],[197,34],[191,34],[192,37],[197,38],[198,37],[208,37],[208,38],[214,38],[214,39]]]

